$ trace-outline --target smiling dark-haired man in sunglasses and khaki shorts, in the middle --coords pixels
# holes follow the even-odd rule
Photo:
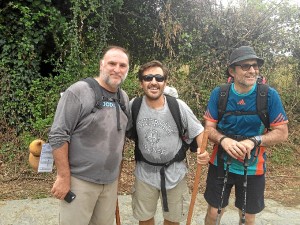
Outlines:
[[[188,212],[189,191],[186,183],[185,162],[176,161],[165,168],[163,176],[165,176],[166,196],[162,194],[162,166],[154,165],[174,159],[183,145],[166,96],[163,94],[168,73],[168,69],[156,60],[142,65],[139,70],[139,80],[144,96],[135,127],[139,154],[142,154],[143,159],[136,158],[132,209],[140,225],[154,225],[159,197],[162,199],[167,197],[167,207],[164,205],[163,211],[164,224],[179,224],[186,219]],[[183,128],[186,130],[185,141],[190,143],[196,137],[197,144],[200,146],[203,126],[183,101],[179,99],[176,101],[179,105]],[[132,102],[133,100],[130,102],[131,109]],[[199,150],[198,163],[207,164],[208,152],[200,154]],[[162,201],[162,204],[164,203]]]

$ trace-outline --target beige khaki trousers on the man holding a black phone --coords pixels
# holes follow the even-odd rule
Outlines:
[[[60,225],[113,225],[117,202],[118,180],[112,184],[95,184],[71,177],[71,191],[76,198],[60,201]]]

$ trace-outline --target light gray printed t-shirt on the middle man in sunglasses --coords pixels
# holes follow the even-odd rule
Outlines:
[[[188,105],[180,99],[177,101],[183,127],[187,130],[186,137],[190,139],[187,142],[191,142],[204,128]],[[143,97],[137,117],[136,129],[139,137],[139,148],[145,159],[150,162],[164,163],[170,161],[182,145],[166,99],[165,102],[164,107],[157,110],[150,108],[145,102],[145,97]],[[138,179],[160,189],[160,168],[161,166],[152,166],[138,161],[134,173]],[[175,187],[186,173],[187,168],[184,161],[171,164],[165,171],[166,189]]]

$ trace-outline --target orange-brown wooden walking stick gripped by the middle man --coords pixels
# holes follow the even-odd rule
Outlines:
[[[208,141],[208,131],[205,130],[203,133],[203,137],[202,137],[200,154],[202,154],[205,151],[206,146],[207,146],[207,141]],[[202,169],[202,165],[197,164],[197,170],[196,170],[195,181],[194,181],[194,186],[193,186],[193,193],[192,193],[192,198],[191,198],[191,203],[190,203],[190,207],[189,207],[189,213],[188,213],[186,225],[191,224],[194,205],[195,205],[196,196],[197,196],[197,192],[198,192],[198,185],[199,185],[199,180],[200,180],[200,175],[201,175],[201,169]]]

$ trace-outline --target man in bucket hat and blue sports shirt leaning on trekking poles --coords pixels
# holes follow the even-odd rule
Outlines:
[[[265,147],[288,137],[287,116],[277,91],[266,87],[270,127],[257,114],[257,83],[264,60],[252,47],[241,46],[230,55],[227,69],[233,82],[228,84],[225,113],[220,117],[221,87],[210,96],[204,115],[205,127],[214,148],[210,159],[204,197],[208,203],[205,224],[219,224],[230,191],[235,186],[235,206],[240,224],[255,224],[255,214],[264,208]]]

